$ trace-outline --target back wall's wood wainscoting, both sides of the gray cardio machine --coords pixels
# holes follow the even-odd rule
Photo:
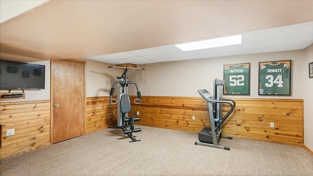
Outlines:
[[[136,98],[130,97],[132,102]],[[225,136],[303,146],[303,99],[233,99],[236,107],[224,122]],[[223,106],[224,115],[229,108]],[[207,102],[202,98],[143,96],[141,105],[132,103],[130,114],[135,116],[137,111],[138,125],[197,133],[210,126]]]

